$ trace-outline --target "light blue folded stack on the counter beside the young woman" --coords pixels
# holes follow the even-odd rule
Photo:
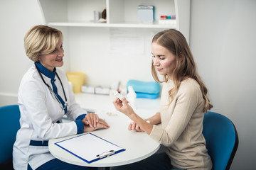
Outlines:
[[[160,92],[160,84],[156,81],[139,81],[131,79],[127,82],[128,86],[132,86],[137,98],[157,98]]]

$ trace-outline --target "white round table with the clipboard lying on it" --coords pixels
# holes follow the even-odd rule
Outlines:
[[[145,110],[141,110],[140,112],[146,113]],[[82,161],[82,159],[75,157],[73,154],[70,154],[54,144],[55,142],[75,136],[73,135],[49,140],[48,146],[50,153],[63,162],[68,162],[70,164],[80,166],[110,167],[139,162],[142,159],[150,157],[159,149],[159,143],[152,140],[145,132],[129,131],[127,129],[129,125],[129,118],[122,115],[122,113],[117,113],[116,115],[98,113],[98,115],[100,115],[100,118],[105,119],[105,121],[110,125],[110,128],[107,130],[95,130],[91,133],[97,135],[98,137],[102,137],[103,139],[112,142],[119,147],[123,147],[126,149],[124,152],[120,152],[110,157],[87,164],[86,162]]]

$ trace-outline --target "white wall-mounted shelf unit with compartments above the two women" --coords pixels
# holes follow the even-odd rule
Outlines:
[[[38,0],[49,26],[89,28],[174,28],[189,42],[191,0]],[[138,22],[138,6],[155,6],[153,24]],[[94,11],[107,11],[107,23],[92,23]],[[176,15],[173,24],[158,24],[160,16]]]

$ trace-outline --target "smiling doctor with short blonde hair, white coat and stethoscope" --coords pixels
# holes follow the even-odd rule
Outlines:
[[[48,140],[109,128],[95,113],[85,113],[75,103],[63,66],[63,34],[48,26],[34,26],[24,38],[26,55],[35,62],[18,90],[21,129],[14,143],[14,169],[90,169],[55,159]],[[71,121],[62,123],[63,115]],[[85,145],[86,142],[85,142]]]

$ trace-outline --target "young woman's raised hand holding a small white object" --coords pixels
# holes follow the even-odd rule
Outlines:
[[[119,98],[114,98],[113,104],[114,107],[117,109],[117,111],[124,113],[128,117],[134,113],[134,110],[132,109],[131,106],[128,104],[129,102],[127,101],[126,98],[122,98],[122,101]]]

